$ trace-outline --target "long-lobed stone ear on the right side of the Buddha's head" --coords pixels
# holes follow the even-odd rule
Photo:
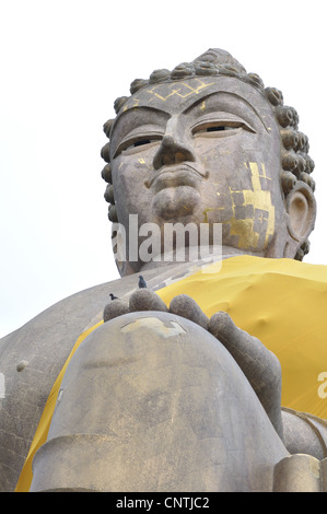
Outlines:
[[[284,257],[294,258],[299,248],[306,242],[315,226],[316,201],[312,189],[297,182],[285,198],[288,244]]]

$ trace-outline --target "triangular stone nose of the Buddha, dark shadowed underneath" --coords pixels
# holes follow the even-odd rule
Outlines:
[[[195,160],[186,131],[183,129],[178,116],[173,116],[166,125],[161,145],[154,155],[153,167],[160,170],[162,166],[180,164],[185,161],[195,162]]]

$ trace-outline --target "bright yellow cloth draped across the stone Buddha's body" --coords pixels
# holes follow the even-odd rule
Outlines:
[[[157,294],[166,305],[174,296],[188,294],[208,317],[227,312],[240,328],[279,358],[282,406],[327,419],[327,266],[236,256],[207,265]],[[17,492],[30,490],[33,456],[46,442],[66,367],[79,344],[101,323],[79,337],[54,384]]]

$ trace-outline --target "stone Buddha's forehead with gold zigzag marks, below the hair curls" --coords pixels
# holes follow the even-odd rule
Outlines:
[[[138,107],[152,107],[167,114],[183,113],[215,93],[223,93],[225,97],[230,95],[230,103],[234,102],[235,105],[240,102],[247,103],[261,116],[271,113],[271,106],[257,89],[231,77],[198,77],[149,84],[130,96],[122,112],[136,110]],[[218,95],[213,96],[212,101],[218,97]]]

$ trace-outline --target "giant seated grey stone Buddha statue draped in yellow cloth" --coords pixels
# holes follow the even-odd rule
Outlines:
[[[327,490],[327,269],[302,261],[296,110],[220,49],[135,80],[115,110],[121,278],[1,340],[1,489]]]

